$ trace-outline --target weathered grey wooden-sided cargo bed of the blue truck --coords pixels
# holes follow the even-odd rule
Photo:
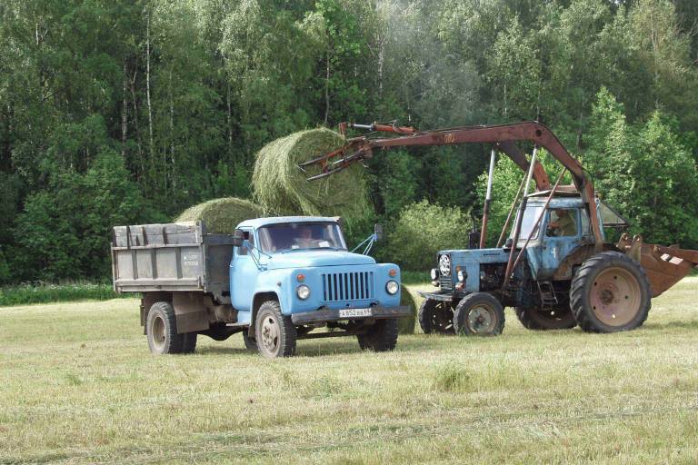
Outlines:
[[[233,235],[209,234],[204,223],[115,226],[116,292],[200,291],[230,303]]]

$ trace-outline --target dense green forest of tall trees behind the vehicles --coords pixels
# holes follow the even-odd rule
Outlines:
[[[264,143],[347,120],[538,119],[633,232],[698,241],[693,0],[5,0],[0,16],[0,282],[104,279],[112,225],[249,197]],[[488,152],[377,154],[365,223],[424,200],[479,213]],[[500,163],[495,209],[522,175]]]

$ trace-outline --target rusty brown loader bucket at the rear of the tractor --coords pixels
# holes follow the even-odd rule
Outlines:
[[[650,280],[653,297],[680,282],[698,265],[698,251],[644,243],[641,235],[633,237],[631,242],[628,234],[623,234],[617,246],[643,267]]]

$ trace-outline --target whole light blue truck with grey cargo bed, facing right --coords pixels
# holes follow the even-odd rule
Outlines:
[[[296,341],[356,336],[362,350],[392,351],[400,268],[350,252],[331,217],[259,218],[234,234],[205,223],[116,226],[116,292],[140,292],[150,351],[191,353],[202,334],[224,341],[241,332],[264,357],[294,355]]]

